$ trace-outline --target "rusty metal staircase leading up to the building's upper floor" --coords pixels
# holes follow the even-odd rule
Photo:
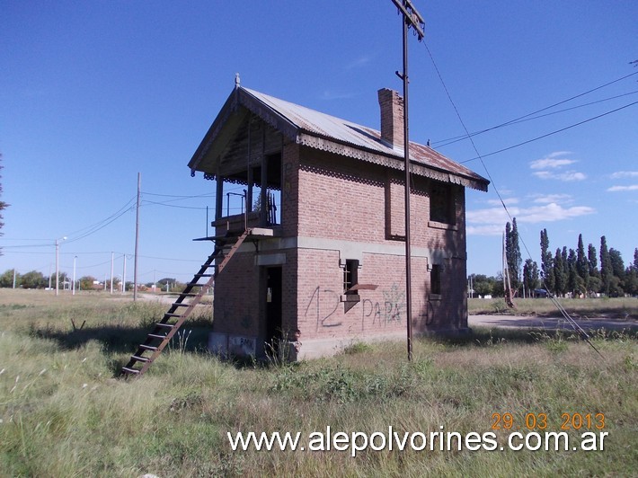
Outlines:
[[[146,341],[139,344],[137,351],[128,360],[128,364],[122,367],[121,374],[124,376],[141,376],[153,361],[157,359],[164,347],[171,341],[173,335],[182,327],[182,323],[186,322],[195,306],[199,304],[201,298],[204,297],[208,290],[213,286],[217,274],[221,273],[226,267],[228,261],[231,260],[239,246],[251,234],[252,229],[246,229],[244,234],[240,235],[230,248],[230,251],[224,256],[224,247],[217,245],[215,251],[208,256],[208,260],[202,264],[201,269],[193,276],[193,279],[184,288],[180,297],[166,311],[162,320],[155,323],[155,328],[146,336]],[[217,264],[217,272],[215,271],[216,259],[224,257]],[[207,279],[205,284],[200,284],[200,279]],[[200,288],[199,292],[192,292],[194,288]],[[188,299],[191,300],[188,300]],[[150,355],[145,355],[150,354]],[[141,365],[141,367],[140,367]]]

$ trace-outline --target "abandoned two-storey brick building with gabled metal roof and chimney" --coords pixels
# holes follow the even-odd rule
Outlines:
[[[403,99],[378,100],[381,131],[235,86],[189,163],[217,183],[205,239],[250,228],[216,279],[211,349],[260,356],[298,329],[312,358],[405,336]],[[412,330],[466,332],[465,187],[489,182],[410,152]]]

